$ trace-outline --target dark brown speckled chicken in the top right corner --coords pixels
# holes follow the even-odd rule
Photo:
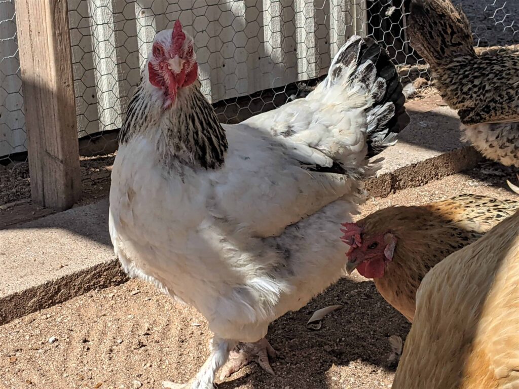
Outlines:
[[[519,48],[476,50],[469,21],[449,0],[411,0],[407,33],[435,85],[485,157],[519,167]]]

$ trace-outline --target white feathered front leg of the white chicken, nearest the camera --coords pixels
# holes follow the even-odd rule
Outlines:
[[[171,381],[163,381],[162,387],[168,389],[214,389],[214,376],[229,357],[229,351],[237,342],[214,337],[211,341],[211,355],[202,365],[197,375],[187,384],[177,384]]]

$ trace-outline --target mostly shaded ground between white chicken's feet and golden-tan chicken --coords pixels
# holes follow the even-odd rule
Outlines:
[[[326,316],[319,331],[306,328],[315,310],[334,304],[343,308]],[[343,278],[298,312],[285,314],[271,324],[267,337],[280,352],[274,366],[277,377],[254,367],[250,376],[219,387],[234,389],[247,383],[255,388],[322,389],[390,384],[395,365],[388,362],[388,337],[405,339],[410,327],[381,298],[372,282],[356,283]]]

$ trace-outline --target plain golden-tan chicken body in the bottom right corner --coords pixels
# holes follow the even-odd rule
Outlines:
[[[519,213],[432,269],[393,389],[519,387]]]

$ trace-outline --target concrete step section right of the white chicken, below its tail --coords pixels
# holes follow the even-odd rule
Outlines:
[[[482,159],[472,146],[460,141],[456,111],[439,95],[406,103],[411,123],[398,143],[377,157],[385,158],[377,176],[366,182],[373,197],[427,184],[433,179],[470,169]]]

